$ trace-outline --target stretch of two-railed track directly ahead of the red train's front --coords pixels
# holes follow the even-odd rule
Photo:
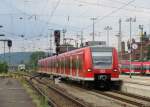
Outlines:
[[[102,92],[98,90],[93,90],[93,92],[98,93],[100,95],[106,96],[110,98],[110,100],[114,100],[117,103],[120,103],[124,105],[125,107],[150,107],[150,99],[141,97],[141,96],[136,96],[136,95],[131,95],[131,94],[125,94],[122,92],[118,91],[107,91],[107,92]],[[135,97],[136,96],[136,97]]]

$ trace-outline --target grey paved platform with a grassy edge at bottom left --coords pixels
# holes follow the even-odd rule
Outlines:
[[[36,105],[17,80],[0,78],[0,107],[36,107]]]

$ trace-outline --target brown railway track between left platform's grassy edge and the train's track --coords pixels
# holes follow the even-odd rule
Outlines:
[[[63,90],[48,85],[47,82],[40,78],[33,78],[30,75],[19,74],[25,77],[26,81],[42,96],[44,96],[48,104],[52,107],[90,107],[83,101],[65,93]],[[31,79],[32,78],[32,79]]]

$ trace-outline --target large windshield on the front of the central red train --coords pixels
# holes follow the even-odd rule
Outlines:
[[[112,49],[92,52],[94,68],[112,67]]]

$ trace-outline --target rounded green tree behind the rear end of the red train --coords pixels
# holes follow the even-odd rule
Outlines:
[[[38,66],[38,60],[45,56],[44,52],[33,52],[30,56],[29,65],[32,69],[36,69]]]

